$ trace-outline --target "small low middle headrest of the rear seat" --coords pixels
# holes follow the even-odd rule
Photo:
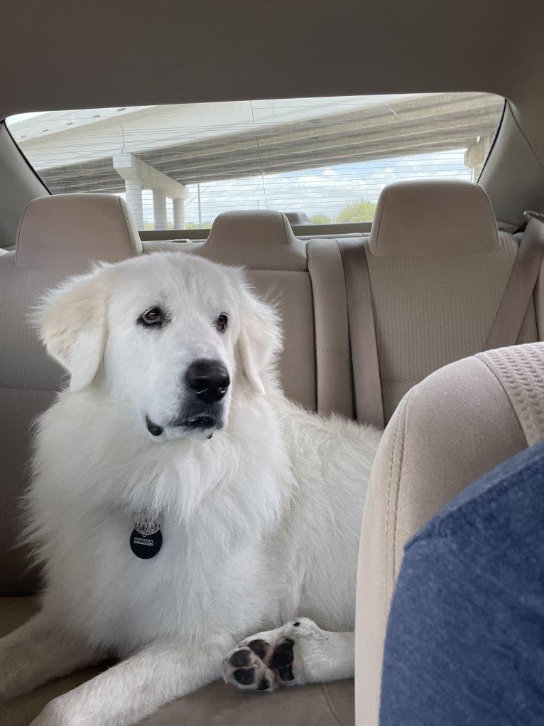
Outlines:
[[[206,242],[194,253],[255,270],[308,269],[305,243],[294,236],[284,214],[268,210],[219,214]]]

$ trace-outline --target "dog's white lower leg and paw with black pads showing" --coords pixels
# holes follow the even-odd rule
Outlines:
[[[355,633],[321,630],[309,618],[242,640],[223,660],[223,678],[243,690],[275,690],[352,678]]]

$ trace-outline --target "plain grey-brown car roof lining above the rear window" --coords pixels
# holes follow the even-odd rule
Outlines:
[[[489,91],[524,105],[544,64],[540,44],[519,44],[527,17],[544,19],[534,0],[497,0],[493,13],[474,0],[445,0],[440,13],[432,0],[413,0],[396,14],[388,2],[360,0],[118,0],[102,8],[11,4],[0,116],[424,91]]]

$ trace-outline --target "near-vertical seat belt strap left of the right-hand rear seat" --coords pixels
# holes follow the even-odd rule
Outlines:
[[[360,423],[370,423],[382,429],[384,404],[366,245],[349,240],[337,240],[337,244],[346,283],[355,416]]]

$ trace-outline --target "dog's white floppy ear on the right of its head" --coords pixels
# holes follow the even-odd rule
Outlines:
[[[281,351],[281,322],[276,309],[252,292],[242,270],[234,269],[240,332],[238,348],[247,380],[257,393],[265,393],[262,373]]]

